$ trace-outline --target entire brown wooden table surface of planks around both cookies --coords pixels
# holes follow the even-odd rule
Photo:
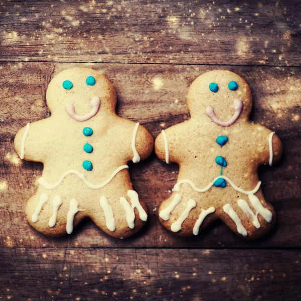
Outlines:
[[[299,300],[301,285],[300,1],[3,1],[0,15],[0,298],[14,300]],[[274,230],[245,241],[221,222],[180,238],[158,219],[178,166],[153,154],[130,164],[147,225],[117,240],[85,220],[70,236],[33,230],[25,204],[43,166],[13,139],[49,116],[50,79],[72,66],[104,72],[119,116],[156,137],[189,119],[186,93],[211,69],[237,72],[254,96],[251,119],[275,130],[284,156],[259,170]]]

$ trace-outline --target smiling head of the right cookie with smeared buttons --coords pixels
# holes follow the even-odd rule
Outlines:
[[[246,121],[252,109],[252,94],[246,81],[227,70],[213,70],[197,77],[187,94],[192,118],[231,126]]]

